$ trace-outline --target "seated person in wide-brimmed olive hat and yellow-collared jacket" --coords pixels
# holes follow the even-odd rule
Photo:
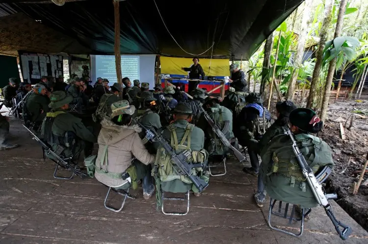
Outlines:
[[[60,151],[60,146],[63,147],[60,155],[64,157],[77,155],[81,150],[84,150],[84,157],[91,155],[96,137],[84,126],[81,119],[67,112],[72,96],[56,91],[50,95],[50,100],[51,111],[47,113],[41,126],[42,138],[54,152]],[[51,158],[50,155],[47,156]]]

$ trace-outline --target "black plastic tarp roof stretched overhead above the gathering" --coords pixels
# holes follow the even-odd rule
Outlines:
[[[210,57],[212,53],[216,58],[240,60],[242,57],[246,60],[302,1],[120,1],[121,53],[193,57],[178,47],[169,30],[178,44],[192,54],[202,53],[214,43],[213,50],[210,48],[201,57]],[[71,40],[77,40],[85,48],[74,49],[69,53],[114,53],[112,1],[73,1],[66,2],[64,6],[35,3],[41,2],[40,0],[2,2],[5,3],[0,4],[0,17],[24,13],[32,20],[70,37]],[[56,38],[53,40],[58,41]],[[48,49],[47,46],[43,48]],[[88,53],[86,49],[91,51]],[[52,50],[43,52],[52,53]]]

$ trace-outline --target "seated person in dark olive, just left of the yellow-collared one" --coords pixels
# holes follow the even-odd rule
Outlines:
[[[50,111],[50,99],[46,93],[46,87],[38,83],[33,87],[33,92],[25,101],[27,119],[33,123],[34,130],[39,128],[46,114]]]

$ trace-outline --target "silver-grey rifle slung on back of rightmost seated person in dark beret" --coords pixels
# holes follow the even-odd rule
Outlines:
[[[309,165],[308,165],[307,161],[305,160],[303,154],[300,152],[299,147],[296,145],[296,142],[295,142],[294,137],[292,136],[292,134],[290,132],[290,129],[286,130],[284,128],[284,133],[286,135],[290,136],[290,139],[292,141],[292,150],[294,151],[295,157],[298,160],[300,169],[301,169],[304,177],[307,179],[308,185],[311,188],[311,191],[312,191],[313,195],[315,196],[315,200],[326,211],[327,216],[330,218],[330,220],[334,224],[335,229],[336,229],[337,233],[339,234],[340,238],[342,240],[346,240],[349,237],[349,235],[351,234],[352,230],[349,226],[343,224],[342,222],[338,221],[335,218],[334,213],[332,212],[332,209],[331,209],[331,205],[328,202],[329,199],[336,199],[337,195],[336,194],[325,194],[323,192],[322,187],[318,183],[314,172],[312,171],[311,167],[309,167]],[[343,229],[341,230],[339,228],[339,226],[341,226]]]

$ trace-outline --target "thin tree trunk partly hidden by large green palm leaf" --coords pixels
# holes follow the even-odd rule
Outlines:
[[[334,39],[341,36],[342,24],[344,21],[344,14],[346,10],[346,3],[347,3],[347,0],[341,0],[340,2],[340,9],[339,9],[338,20],[336,23],[336,28],[335,28]],[[323,93],[323,99],[322,99],[322,108],[321,108],[321,113],[319,115],[323,122],[327,118],[328,100],[330,98],[331,85],[332,85],[332,79],[334,78],[335,68],[336,68],[336,58],[330,61],[330,64],[328,67],[326,85],[324,87],[324,93]],[[341,84],[340,82],[339,84]]]

